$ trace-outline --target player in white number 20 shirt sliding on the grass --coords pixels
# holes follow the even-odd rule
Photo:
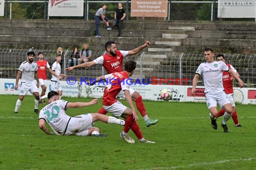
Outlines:
[[[75,135],[75,136],[105,136],[100,134],[98,127],[92,127],[96,121],[104,123],[124,125],[125,121],[116,119],[111,116],[102,115],[99,113],[89,113],[85,115],[69,116],[66,115],[66,110],[69,108],[79,108],[91,106],[98,103],[98,99],[93,99],[91,102],[67,102],[60,100],[59,93],[50,91],[48,93],[49,104],[40,110],[39,127],[48,135]],[[53,129],[50,132],[45,126],[45,121]]]

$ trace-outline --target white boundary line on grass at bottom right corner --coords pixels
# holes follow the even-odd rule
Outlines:
[[[216,164],[223,164],[226,162],[233,162],[233,161],[252,161],[255,159],[256,157],[250,157],[250,158],[244,158],[244,159],[227,159],[222,161],[202,162],[202,163],[194,163],[194,164],[182,165],[182,166],[154,167],[154,168],[137,169],[137,170],[175,170],[178,168],[192,168],[194,166],[216,165]]]

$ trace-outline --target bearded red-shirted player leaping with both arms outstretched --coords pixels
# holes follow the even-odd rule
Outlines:
[[[114,72],[121,72],[123,71],[122,65],[123,65],[124,57],[128,55],[135,55],[141,50],[143,50],[144,48],[148,47],[148,45],[150,45],[150,42],[146,41],[145,44],[131,51],[119,51],[117,50],[115,43],[112,41],[109,41],[109,42],[106,42],[105,44],[105,49],[106,49],[105,55],[102,55],[97,59],[94,59],[93,61],[66,68],[65,71],[71,71],[77,68],[88,68],[96,64],[102,64],[102,66],[106,69],[108,74],[114,73]],[[130,91],[130,95],[132,96],[132,100],[136,102],[137,109],[141,113],[141,116],[143,117],[146,123],[146,126],[149,127],[150,125],[157,123],[158,119],[149,119],[146,113],[146,108],[144,106],[144,103],[142,102],[141,95],[134,89],[130,88],[129,91]],[[124,97],[124,92],[119,93],[118,97]],[[105,115],[107,112],[106,110],[104,110],[104,108],[102,108],[98,111],[98,113]]]

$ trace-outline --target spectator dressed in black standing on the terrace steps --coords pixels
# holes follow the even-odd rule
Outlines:
[[[113,23],[113,26],[118,27],[118,37],[120,37],[123,27],[123,21],[126,17],[125,10],[122,7],[122,3],[118,3],[118,8],[115,10],[115,21]]]

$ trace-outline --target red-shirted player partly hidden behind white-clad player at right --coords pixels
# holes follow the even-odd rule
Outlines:
[[[218,61],[222,61],[225,63],[225,56],[224,54],[219,54],[216,56]],[[238,72],[236,71],[236,69],[231,65],[231,64],[227,64],[227,66],[235,73],[239,76]],[[228,98],[230,99],[231,102],[231,106],[232,106],[232,119],[234,121],[235,127],[242,127],[239,122],[238,122],[238,116],[236,113],[236,106],[234,103],[234,91],[233,91],[233,85],[232,85],[232,81],[234,80],[234,78],[230,75],[229,72],[224,72],[223,71],[223,76],[222,76],[222,81],[223,81],[223,87],[225,90],[225,93],[227,94]],[[225,114],[225,110],[221,109],[216,118],[222,116]]]

